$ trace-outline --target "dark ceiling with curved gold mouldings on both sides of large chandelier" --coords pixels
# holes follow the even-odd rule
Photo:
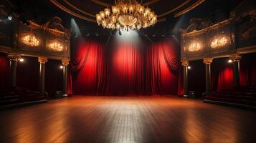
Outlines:
[[[106,7],[113,6],[115,0],[49,0],[59,9],[86,21],[95,22],[95,14]],[[166,21],[166,17],[178,17],[191,11],[205,0],[143,0],[158,15],[158,21]]]

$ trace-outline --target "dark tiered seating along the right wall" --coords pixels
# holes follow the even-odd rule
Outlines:
[[[256,109],[256,87],[240,86],[206,94],[204,102]]]

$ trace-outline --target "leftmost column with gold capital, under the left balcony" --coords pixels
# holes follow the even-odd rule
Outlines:
[[[18,60],[21,57],[21,54],[9,53],[8,58],[10,59],[10,81],[11,87],[16,87],[16,69],[18,65]]]

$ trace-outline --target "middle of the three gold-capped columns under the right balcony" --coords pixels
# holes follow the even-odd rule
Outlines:
[[[212,64],[212,58],[204,58],[204,64],[205,64],[205,75],[206,75],[206,91],[207,93],[212,92],[212,86],[211,86],[211,64]]]

